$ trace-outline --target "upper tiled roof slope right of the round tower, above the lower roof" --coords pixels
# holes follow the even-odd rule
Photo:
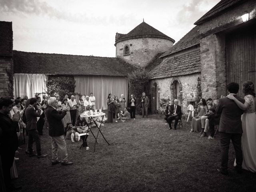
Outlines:
[[[168,56],[172,53],[179,52],[186,48],[200,44],[199,26],[195,26],[190,32],[182,37],[172,48],[164,52],[160,58]]]

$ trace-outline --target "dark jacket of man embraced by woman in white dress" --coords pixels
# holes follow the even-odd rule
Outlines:
[[[244,99],[236,95],[234,97],[244,103]],[[226,97],[220,99],[216,109],[216,114],[220,116],[219,132],[241,134],[243,132],[241,115],[243,113],[244,111],[233,100]]]

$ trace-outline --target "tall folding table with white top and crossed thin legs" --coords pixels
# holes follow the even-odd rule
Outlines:
[[[94,137],[94,139],[95,139],[95,142],[88,142],[88,141],[85,141],[85,140],[86,140],[86,137],[85,137],[84,140],[83,140],[82,145],[84,144],[84,142],[87,142],[87,143],[94,143],[94,152],[95,152],[96,143],[98,143],[98,142],[97,142],[98,139],[104,139],[104,140],[107,142],[107,144],[110,145],[110,144],[108,143],[108,141],[106,140],[106,138],[104,137],[104,135],[102,134],[101,130],[100,130],[100,127],[101,127],[101,124],[102,124],[102,120],[103,120],[103,116],[104,116],[104,115],[106,115],[106,114],[105,114],[105,113],[93,113],[93,114],[90,114],[90,115],[89,115],[89,114],[88,114],[88,115],[87,115],[87,114],[81,114],[81,115],[80,115],[80,117],[84,119],[86,125],[88,126],[88,130],[86,131],[86,135],[88,135],[88,131],[90,130],[91,133],[92,133],[92,135],[93,135],[93,137]],[[98,126],[98,124],[96,123],[96,121],[95,121],[93,118],[94,118],[94,117],[100,117],[100,116],[102,117],[102,119],[101,119],[101,122],[100,122],[100,126]],[[86,118],[89,118],[89,119],[90,119],[90,122],[89,122],[89,123],[86,121]],[[98,128],[98,132],[97,132],[97,135],[96,135],[96,136],[94,135],[94,133],[92,132],[92,129],[90,128],[90,124],[91,124],[92,122],[94,122],[94,124],[95,124],[96,127]],[[99,133],[102,135],[103,138],[98,138]],[[82,145],[81,145],[80,149],[82,148]]]

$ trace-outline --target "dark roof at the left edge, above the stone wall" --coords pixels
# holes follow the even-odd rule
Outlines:
[[[0,21],[0,56],[12,56],[12,22]]]

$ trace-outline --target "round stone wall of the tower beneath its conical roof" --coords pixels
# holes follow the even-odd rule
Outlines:
[[[124,56],[124,47],[130,48],[130,54]],[[116,44],[116,57],[126,62],[145,67],[156,54],[165,52],[173,46],[173,42],[161,38],[136,38],[124,40]]]

